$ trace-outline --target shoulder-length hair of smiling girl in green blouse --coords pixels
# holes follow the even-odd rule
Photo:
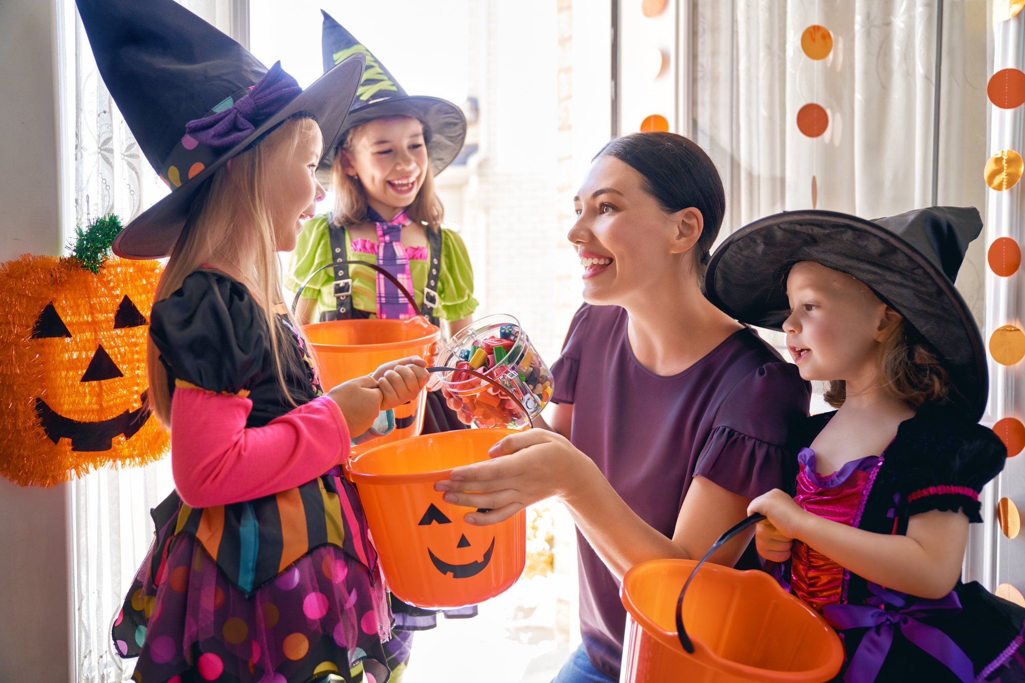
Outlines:
[[[415,117],[400,115],[374,119],[374,121],[413,118]],[[417,119],[417,121],[420,120]],[[368,121],[348,131],[348,134],[345,135],[345,141],[339,144],[334,153],[334,162],[331,164],[331,187],[334,189],[334,215],[331,222],[335,227],[343,224],[355,225],[366,221],[366,190],[363,188],[363,183],[360,182],[359,177],[345,173],[345,169],[342,166],[341,153],[343,151],[352,151],[353,142],[369,123],[373,122]],[[422,121],[420,121],[420,125],[423,126],[423,141],[426,144],[430,141],[430,129]],[[429,157],[427,158],[427,168],[423,175],[423,184],[420,185],[420,190],[416,193],[413,203],[406,208],[406,215],[413,222],[425,225],[427,229],[434,232],[441,229],[442,220],[445,217],[445,207],[442,206],[442,201],[435,194],[435,177],[430,171]]]

